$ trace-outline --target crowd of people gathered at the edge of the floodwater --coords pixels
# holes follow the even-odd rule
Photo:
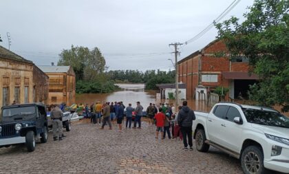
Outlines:
[[[142,116],[144,115],[142,105],[136,102],[136,108],[129,103],[128,107],[120,102],[103,102],[99,101],[96,104],[85,105],[85,115],[90,118],[90,122],[94,124],[101,124],[100,129],[104,129],[108,125],[112,129],[112,124],[118,124],[118,131],[122,132],[122,121],[125,120],[125,129],[141,129]],[[192,139],[192,124],[195,120],[195,114],[192,109],[187,106],[184,101],[182,106],[175,109],[173,104],[165,105],[160,103],[156,106],[150,103],[145,112],[149,125],[156,124],[156,139],[161,134],[161,139],[164,140],[167,136],[169,139],[183,140],[185,150],[193,150]],[[101,122],[101,120],[103,120]],[[132,121],[133,125],[132,125]],[[189,145],[189,148],[188,148]]]

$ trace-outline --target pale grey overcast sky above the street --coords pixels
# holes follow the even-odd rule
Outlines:
[[[0,45],[36,65],[57,63],[71,45],[100,48],[110,69],[173,69],[169,43],[188,41],[233,0],[1,0]],[[223,20],[242,18],[253,0],[242,0]],[[217,36],[212,28],[180,48],[178,60]]]

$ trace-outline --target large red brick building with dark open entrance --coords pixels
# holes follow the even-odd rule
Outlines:
[[[215,87],[229,89],[226,99],[234,99],[242,94],[247,96],[249,85],[257,82],[255,74],[248,74],[248,58],[224,57],[228,50],[223,41],[215,40],[202,50],[178,61],[179,82],[186,83],[186,98],[195,98],[199,85],[213,91]]]

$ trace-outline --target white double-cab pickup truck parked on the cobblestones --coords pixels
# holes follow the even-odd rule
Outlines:
[[[289,173],[289,118],[279,111],[220,102],[195,116],[197,151],[215,146],[241,160],[244,173],[266,173],[266,168]]]

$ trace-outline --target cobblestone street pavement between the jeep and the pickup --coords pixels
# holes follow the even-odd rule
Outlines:
[[[78,122],[63,141],[0,149],[0,173],[242,173],[239,160],[211,148],[184,151],[179,140],[156,140],[155,127],[117,132]],[[195,146],[195,145],[194,145]]]

